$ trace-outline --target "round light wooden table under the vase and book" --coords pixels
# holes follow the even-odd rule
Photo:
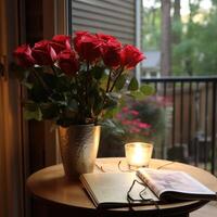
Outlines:
[[[118,163],[122,161],[122,169],[127,168],[125,158],[98,158],[94,173],[118,173]],[[151,159],[150,168],[175,169],[190,174],[213,191],[217,191],[217,178],[208,171],[187,164]],[[50,166],[33,174],[27,180],[27,188],[47,205],[47,216],[189,216],[189,213],[206,204],[205,201],[190,201],[159,205],[128,208],[105,209],[99,212],[79,181],[67,181],[64,177],[62,165]]]

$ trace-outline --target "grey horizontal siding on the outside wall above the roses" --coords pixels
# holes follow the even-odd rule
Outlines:
[[[73,31],[101,31],[135,44],[135,10],[133,0],[72,0]]]

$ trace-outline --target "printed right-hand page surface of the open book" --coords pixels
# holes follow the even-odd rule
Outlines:
[[[182,194],[215,195],[197,180],[183,171],[167,169],[139,169],[137,175],[161,197],[164,192],[177,192]]]

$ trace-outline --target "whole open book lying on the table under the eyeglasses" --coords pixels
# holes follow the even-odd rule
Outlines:
[[[143,182],[141,202],[139,193],[144,186],[135,184],[130,191],[133,205],[164,203],[176,200],[216,200],[216,193],[182,171],[139,169],[137,173],[84,174],[80,181],[97,207],[125,207],[129,205],[127,192],[133,180]],[[140,201],[139,201],[140,200]]]

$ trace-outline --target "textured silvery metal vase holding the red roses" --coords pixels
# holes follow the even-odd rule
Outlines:
[[[93,171],[100,129],[94,125],[59,127],[63,167],[68,179],[78,179],[81,174]]]

